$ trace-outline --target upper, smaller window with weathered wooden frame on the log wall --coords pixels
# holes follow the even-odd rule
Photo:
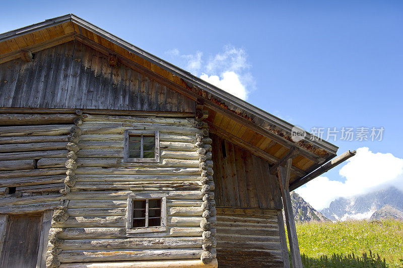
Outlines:
[[[159,131],[125,130],[123,161],[158,163],[160,161]]]

